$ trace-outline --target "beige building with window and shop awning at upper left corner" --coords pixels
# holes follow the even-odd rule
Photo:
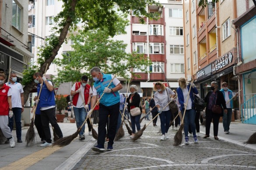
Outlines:
[[[0,1],[0,70],[17,74],[17,81],[33,58],[28,41],[28,1]]]

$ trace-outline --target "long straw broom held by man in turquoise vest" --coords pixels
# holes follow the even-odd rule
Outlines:
[[[112,78],[112,80],[109,82],[109,85],[113,82],[114,78],[116,77],[116,75],[114,75],[114,77]],[[109,88],[109,85],[107,86],[107,88]],[[105,92],[102,93],[102,96],[105,94]],[[99,98],[99,100],[95,103],[94,107],[92,109],[95,108],[95,106],[98,104],[98,102],[102,99],[102,96]],[[86,120],[88,119],[88,117],[91,115],[88,115],[87,118],[84,120],[83,124],[77,129],[77,131],[75,133],[73,133],[70,136],[66,136],[63,138],[60,138],[59,140],[57,140],[55,143],[53,143],[53,146],[57,145],[57,146],[67,146],[69,145],[79,134],[79,132],[81,131],[82,127],[84,126]]]

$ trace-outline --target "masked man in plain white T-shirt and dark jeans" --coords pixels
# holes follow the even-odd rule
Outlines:
[[[21,140],[21,113],[24,111],[24,96],[23,96],[23,88],[21,83],[17,82],[17,75],[14,71],[11,71],[11,75],[9,78],[9,83],[5,83],[7,86],[11,87],[11,103],[12,103],[12,110],[14,116],[11,118],[9,117],[9,124],[8,126],[13,130],[13,123],[15,120],[16,126],[16,137],[17,142],[22,143]]]

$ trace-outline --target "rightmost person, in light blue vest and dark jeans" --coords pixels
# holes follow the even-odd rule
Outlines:
[[[233,100],[237,99],[238,93],[236,93],[234,96],[233,92],[230,89],[228,89],[227,82],[223,82],[221,86],[222,86],[222,88],[220,91],[224,95],[224,99],[226,101],[226,106],[227,106],[227,110],[228,110],[227,113],[223,113],[222,123],[223,123],[224,133],[228,134],[229,126],[230,126],[231,118],[232,118]]]

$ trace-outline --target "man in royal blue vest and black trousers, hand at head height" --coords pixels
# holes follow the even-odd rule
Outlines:
[[[39,95],[40,87],[42,85],[42,91],[40,93],[39,99],[35,100],[35,103],[38,105],[41,111],[41,122],[44,133],[46,135],[46,143],[43,143],[40,146],[52,146],[51,131],[49,127],[49,122],[53,126],[56,135],[59,138],[63,137],[60,126],[57,123],[56,119],[56,104],[55,104],[55,95],[53,83],[49,80],[46,80],[46,77],[42,73],[35,73],[33,75],[34,82],[37,83],[37,95]],[[40,100],[40,102],[39,102]]]

